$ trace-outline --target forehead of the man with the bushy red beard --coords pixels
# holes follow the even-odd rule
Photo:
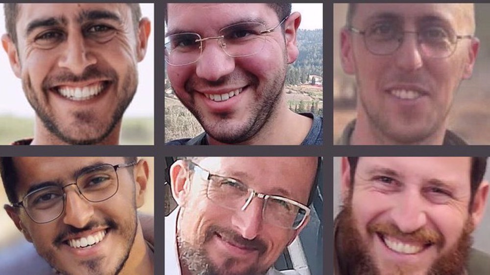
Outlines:
[[[469,157],[362,157],[356,173],[370,176],[382,172],[403,179],[440,180],[469,188],[470,167]]]

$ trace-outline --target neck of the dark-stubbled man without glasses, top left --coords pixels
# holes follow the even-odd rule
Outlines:
[[[103,140],[99,141],[96,144],[91,144],[91,145],[118,145],[119,144],[119,136],[121,132],[121,121],[118,122],[118,124],[114,127],[112,132],[104,138]],[[58,138],[56,135],[51,133],[49,131],[43,121],[36,116],[35,122],[34,122],[34,138],[31,142],[31,145],[73,145],[70,144],[60,138]]]

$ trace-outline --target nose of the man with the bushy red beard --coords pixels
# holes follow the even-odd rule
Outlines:
[[[391,218],[398,229],[410,233],[422,228],[427,223],[424,203],[416,189],[400,193],[391,212]]]

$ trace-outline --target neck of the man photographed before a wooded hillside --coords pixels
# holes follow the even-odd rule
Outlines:
[[[234,145],[299,145],[308,135],[312,124],[313,120],[309,117],[289,110],[285,96],[281,96],[262,129],[252,138]],[[209,135],[206,137],[211,145],[226,145]]]

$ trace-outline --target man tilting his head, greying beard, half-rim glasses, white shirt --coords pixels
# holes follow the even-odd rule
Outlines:
[[[322,274],[310,273],[307,263],[295,267],[302,271],[273,267],[310,220],[317,167],[313,157],[174,162],[172,195],[179,206],[165,220],[165,273]]]

